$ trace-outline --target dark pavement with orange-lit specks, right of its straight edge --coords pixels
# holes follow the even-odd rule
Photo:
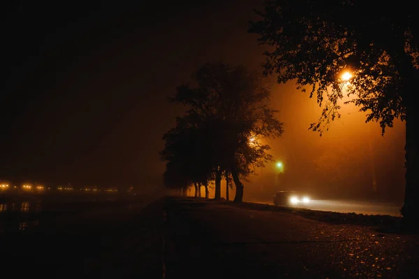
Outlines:
[[[417,278],[419,236],[166,200],[166,278]]]

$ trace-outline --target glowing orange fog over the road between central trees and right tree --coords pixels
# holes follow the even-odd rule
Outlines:
[[[346,99],[344,100],[346,101]],[[285,123],[285,133],[268,143],[275,162],[256,170],[244,182],[245,201],[271,201],[279,190],[294,190],[318,200],[366,201],[401,205],[404,198],[404,122],[396,120],[385,130],[377,122],[365,123],[365,113],[353,104],[343,105],[341,118],[323,136],[309,130],[321,108],[309,93],[295,85],[272,85],[272,107]],[[226,196],[225,182],[221,194]],[[193,195],[191,189],[189,194]],[[204,189],[201,189],[204,194]],[[234,198],[230,189],[230,199]],[[210,189],[210,197],[214,189]]]

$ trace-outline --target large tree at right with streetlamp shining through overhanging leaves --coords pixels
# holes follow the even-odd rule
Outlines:
[[[403,1],[402,1],[403,2]],[[311,129],[321,133],[340,117],[344,96],[339,78],[351,71],[350,102],[367,112],[367,122],[392,127],[406,120],[406,196],[402,214],[419,218],[419,162],[416,125],[419,113],[414,94],[418,74],[418,24],[411,3],[383,5],[378,1],[265,1],[262,17],[250,33],[267,44],[265,74],[278,83],[295,80],[311,88],[323,113]]]

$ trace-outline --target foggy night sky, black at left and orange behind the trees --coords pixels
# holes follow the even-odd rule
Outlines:
[[[205,62],[261,70],[263,48],[247,34],[259,0],[121,2],[14,1],[1,8],[0,178],[161,183],[161,136],[182,113],[167,100],[175,87]],[[320,115],[316,101],[293,85],[272,88],[272,105],[286,123],[284,137],[270,141],[272,154],[289,166],[293,185],[321,188],[312,179],[320,160],[359,173],[342,187],[362,194],[373,161],[381,192],[402,199],[402,123],[382,137],[378,124],[347,108],[320,138],[307,131]],[[369,143],[373,155],[366,157]]]

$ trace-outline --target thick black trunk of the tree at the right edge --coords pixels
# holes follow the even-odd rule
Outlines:
[[[413,92],[412,92],[413,94]],[[419,113],[412,104],[406,106],[406,145],[404,145],[406,173],[406,189],[404,192],[404,206],[401,213],[411,224],[419,225],[419,155],[416,129],[419,124]]]

